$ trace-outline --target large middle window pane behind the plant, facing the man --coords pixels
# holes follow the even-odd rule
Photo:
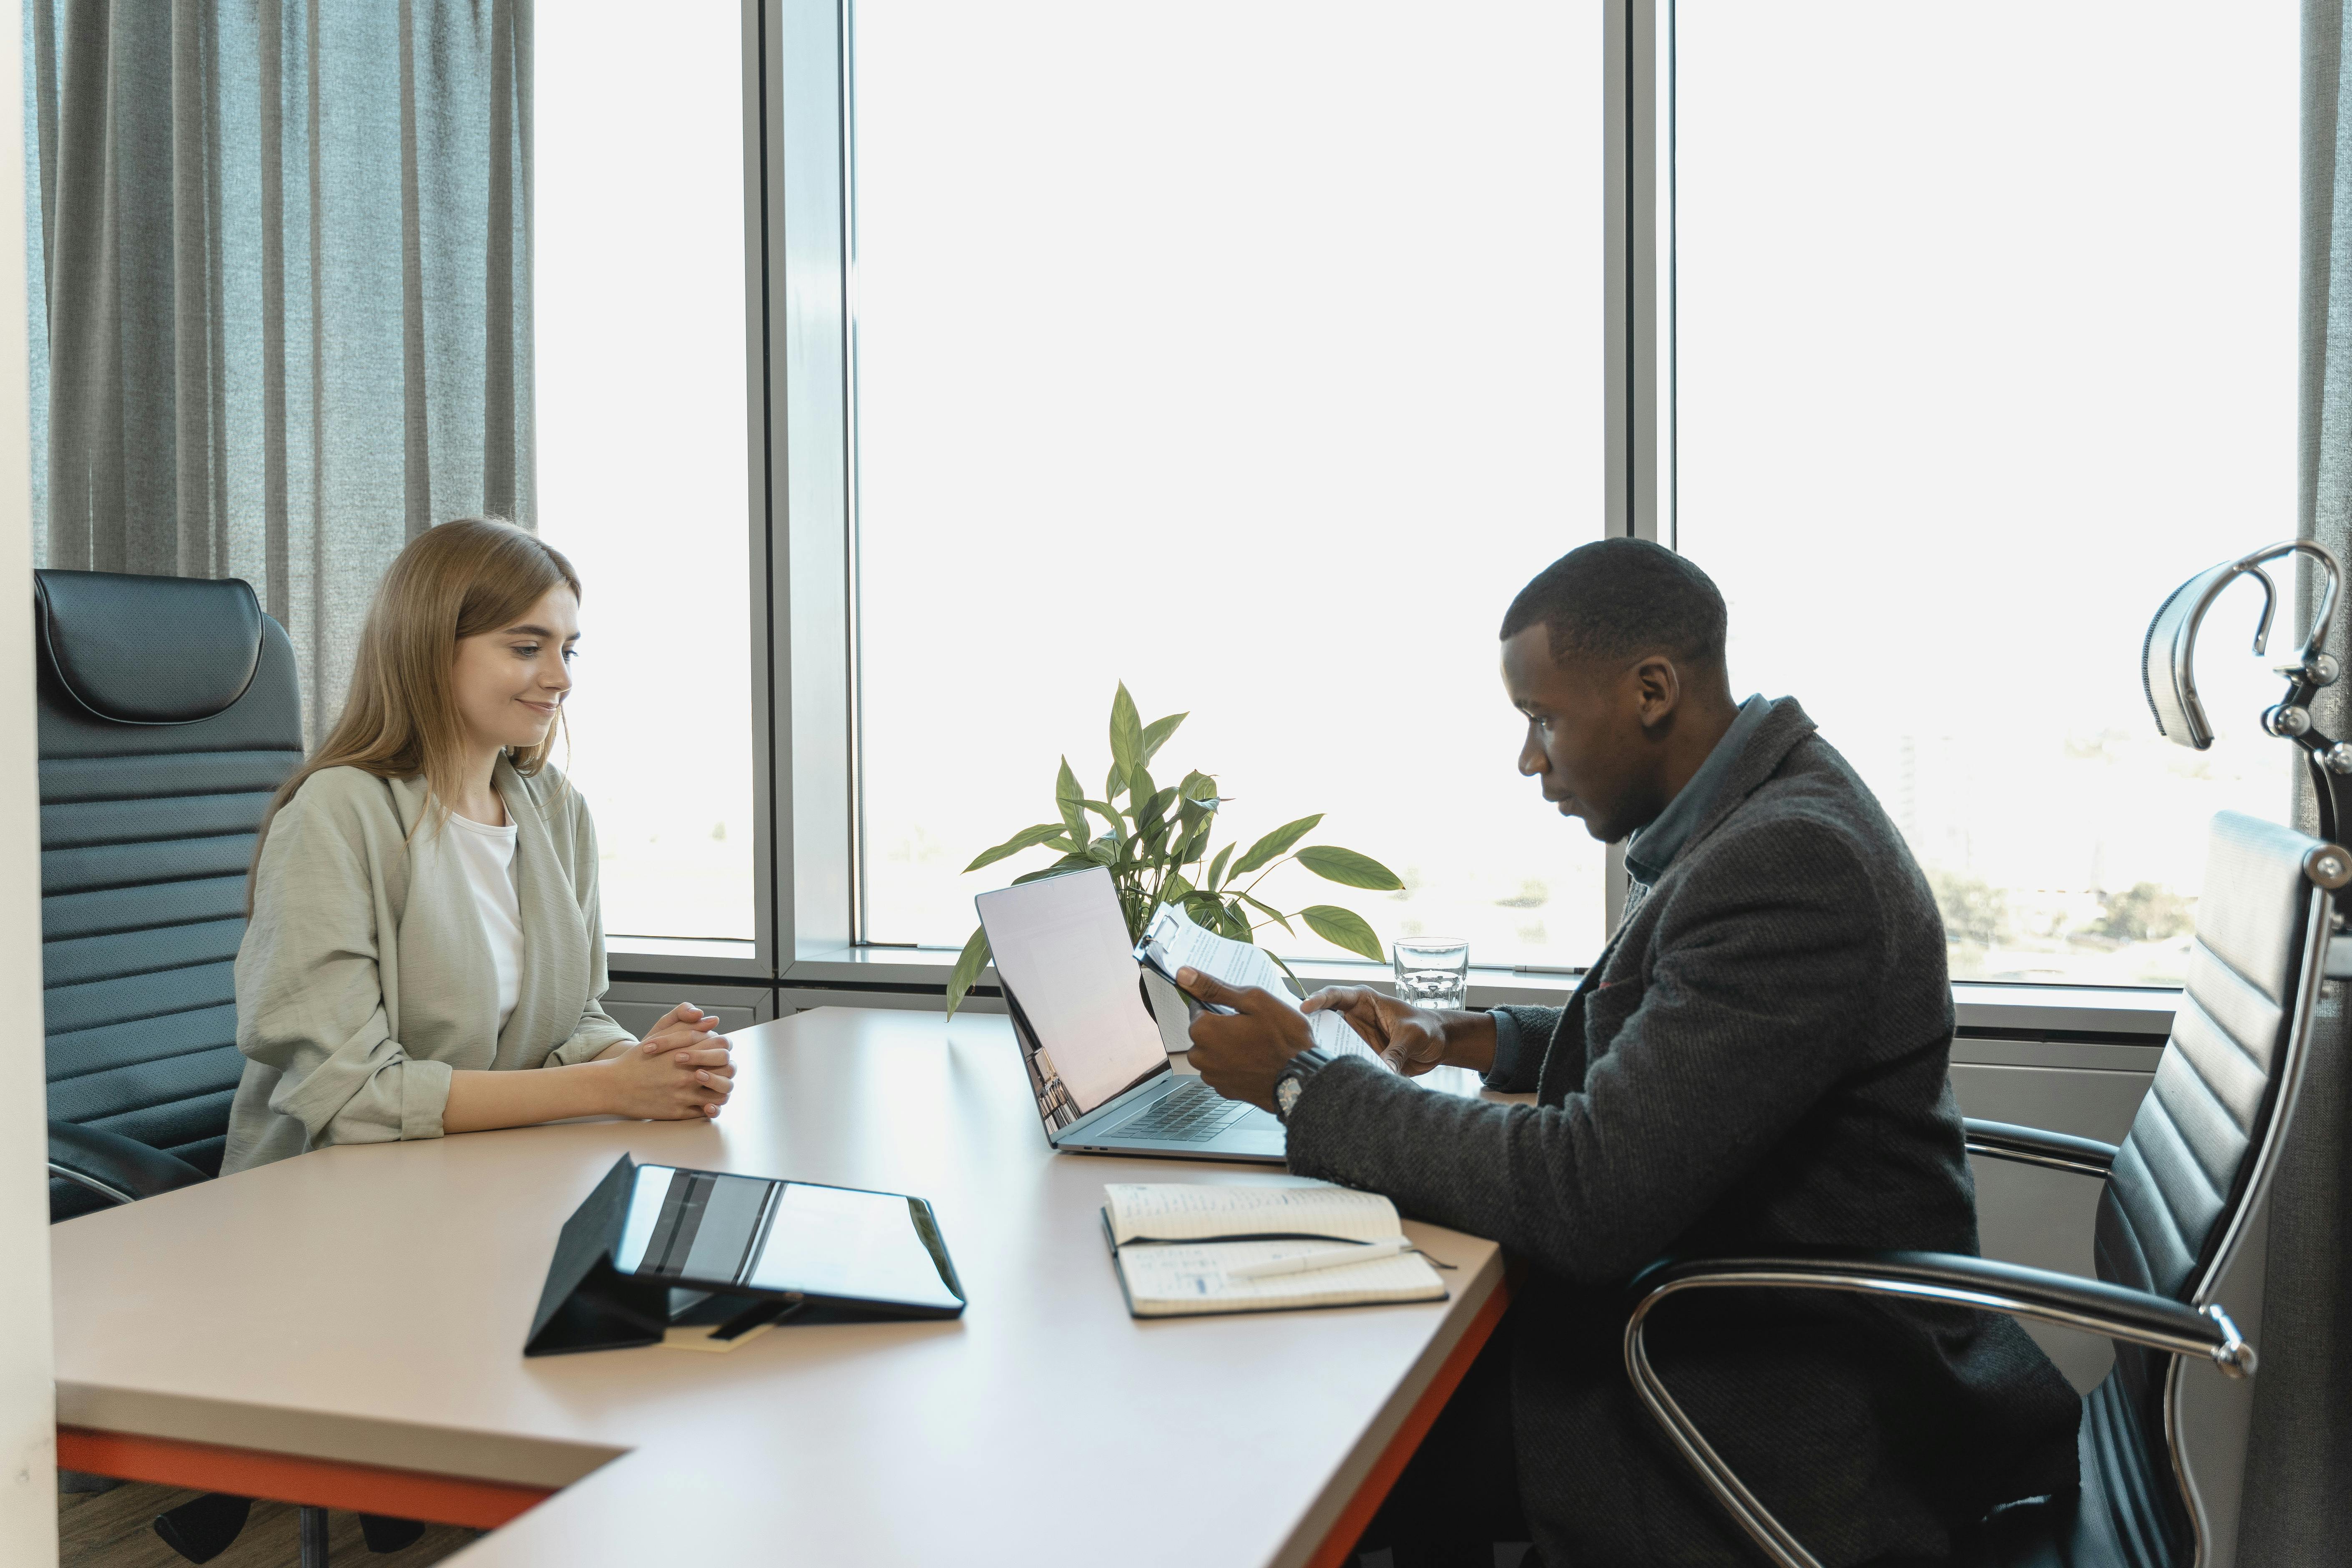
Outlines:
[[[1409,884],[1284,910],[1585,961],[1496,628],[1602,534],[1597,14],[861,0],[851,59],[866,938],[1047,863],[960,875],[1124,679],[1244,846],[1322,811]]]

